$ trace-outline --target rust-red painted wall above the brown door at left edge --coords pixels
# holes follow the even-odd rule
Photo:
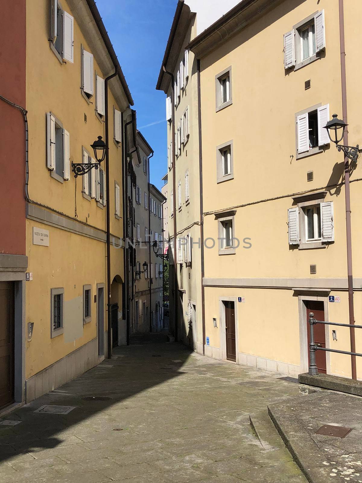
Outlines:
[[[0,0],[0,95],[26,107],[26,0]],[[23,114],[0,99],[0,253],[26,255]]]

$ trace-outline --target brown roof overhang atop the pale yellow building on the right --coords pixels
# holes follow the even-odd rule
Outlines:
[[[196,58],[201,58],[283,1],[285,0],[243,0],[195,37],[187,48]]]

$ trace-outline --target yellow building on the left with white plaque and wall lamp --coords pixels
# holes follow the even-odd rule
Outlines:
[[[130,121],[131,128],[135,115],[94,2],[28,0],[26,28],[30,280],[24,357],[29,402],[107,356],[110,311],[113,345],[121,339],[118,329],[125,333],[124,138],[129,135],[125,123]],[[106,90],[106,78],[115,69]],[[107,121],[108,192],[105,161],[83,176],[75,178],[72,171],[73,163],[96,162],[91,144],[98,136],[107,140]]]

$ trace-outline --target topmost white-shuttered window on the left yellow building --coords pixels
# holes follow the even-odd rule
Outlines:
[[[59,62],[74,62],[74,19],[62,10],[57,0],[52,0],[52,28],[50,48]]]

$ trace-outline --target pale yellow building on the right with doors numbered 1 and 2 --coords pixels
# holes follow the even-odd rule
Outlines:
[[[202,167],[204,275],[198,284],[205,294],[206,355],[296,376],[308,369],[308,313],[348,323],[344,159],[324,126],[348,106],[348,144],[361,144],[361,39],[353,25],[362,6],[340,4],[344,20],[338,2],[243,1],[212,25],[202,24],[183,45],[199,75],[200,96],[195,89],[192,105],[200,107],[202,146],[192,160]],[[196,4],[201,14],[203,5]],[[181,25],[182,14],[175,18]],[[199,11],[194,25],[198,18]],[[357,324],[361,177],[357,164],[350,185]],[[355,332],[361,353],[362,333]],[[321,347],[350,350],[348,328],[320,325],[316,334]],[[348,355],[317,356],[321,372],[350,377]]]

